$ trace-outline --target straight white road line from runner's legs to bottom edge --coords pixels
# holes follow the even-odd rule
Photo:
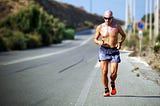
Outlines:
[[[99,62],[96,63],[92,73],[88,77],[83,89],[81,90],[81,94],[80,94],[79,98],[77,99],[75,106],[83,106],[84,105],[84,103],[87,99],[88,93],[89,93],[89,89],[92,85],[92,82],[93,82],[93,80],[96,76],[97,70],[99,68],[99,65],[97,65],[97,64],[99,64]]]

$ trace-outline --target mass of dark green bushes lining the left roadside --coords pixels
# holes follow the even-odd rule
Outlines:
[[[90,22],[86,24],[92,26]],[[0,51],[48,46],[63,39],[74,39],[74,33],[73,29],[66,30],[66,25],[59,19],[32,3],[0,20]]]

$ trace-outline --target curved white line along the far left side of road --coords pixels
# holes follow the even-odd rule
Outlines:
[[[68,51],[71,51],[73,49],[76,49],[78,47],[81,47],[81,46],[85,45],[92,38],[93,38],[93,36],[89,37],[87,40],[83,41],[79,46],[76,46],[76,47],[72,47],[72,48],[69,48],[69,49],[62,50],[62,51],[57,51],[57,52],[54,52],[54,53],[47,53],[47,54],[42,54],[42,55],[38,55],[38,56],[26,57],[26,58],[23,58],[23,59],[17,59],[17,60],[13,60],[13,61],[2,63],[2,65],[11,65],[11,64],[15,64],[15,63],[20,63],[20,62],[29,61],[29,60],[40,59],[40,58],[49,57],[49,56],[52,56],[52,55],[68,52]]]

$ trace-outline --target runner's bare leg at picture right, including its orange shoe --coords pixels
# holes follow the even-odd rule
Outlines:
[[[116,94],[116,87],[115,87],[115,80],[117,78],[117,71],[118,71],[118,63],[111,63],[111,94],[115,95]]]

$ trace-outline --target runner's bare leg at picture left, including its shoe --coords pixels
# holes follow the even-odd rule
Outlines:
[[[108,88],[108,62],[101,61],[101,69],[102,69],[102,83],[105,89],[104,96],[109,96],[109,88]]]

